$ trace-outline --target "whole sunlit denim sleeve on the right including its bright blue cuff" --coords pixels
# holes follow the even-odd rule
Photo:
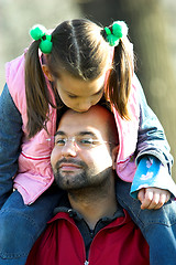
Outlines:
[[[148,107],[142,86],[135,76],[140,103],[140,124],[136,146],[136,171],[131,186],[131,195],[138,198],[142,188],[155,187],[168,190],[176,197],[172,179],[173,157],[164,129]]]

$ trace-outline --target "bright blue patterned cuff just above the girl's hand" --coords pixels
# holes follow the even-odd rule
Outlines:
[[[168,173],[167,167],[154,156],[144,156],[140,160],[130,194],[138,199],[139,190],[148,187],[168,190],[173,197],[176,197],[176,183]]]

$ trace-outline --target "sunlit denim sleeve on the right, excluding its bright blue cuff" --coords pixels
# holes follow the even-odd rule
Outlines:
[[[135,77],[136,78],[136,77]],[[168,173],[172,172],[173,156],[167,142],[164,129],[146,103],[144,92],[139,80],[135,80],[140,103],[140,124],[136,145],[136,165],[142,157],[152,155],[156,157],[164,167],[167,167]]]

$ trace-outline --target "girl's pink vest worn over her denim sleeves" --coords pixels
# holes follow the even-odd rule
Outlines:
[[[22,194],[24,203],[33,203],[54,181],[52,167],[50,162],[51,151],[53,149],[51,136],[56,131],[56,109],[50,108],[50,121],[47,123],[47,132],[42,129],[32,139],[26,139],[26,100],[24,85],[24,54],[7,63],[7,84],[15,106],[22,115],[23,139],[22,151],[19,157],[19,171],[14,178],[14,188]],[[117,159],[118,176],[131,182],[135,173],[135,162],[132,157],[138,141],[138,128],[140,107],[136,102],[135,78],[131,89],[129,106],[131,110],[131,120],[121,119],[114,109],[114,118],[119,131],[120,150]],[[52,93],[52,92],[51,92]]]

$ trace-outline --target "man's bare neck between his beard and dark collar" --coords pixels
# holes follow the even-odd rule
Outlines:
[[[85,219],[90,229],[105,216],[112,216],[117,211],[117,199],[114,183],[106,190],[84,189],[68,193],[68,199],[73,209],[77,210]]]

